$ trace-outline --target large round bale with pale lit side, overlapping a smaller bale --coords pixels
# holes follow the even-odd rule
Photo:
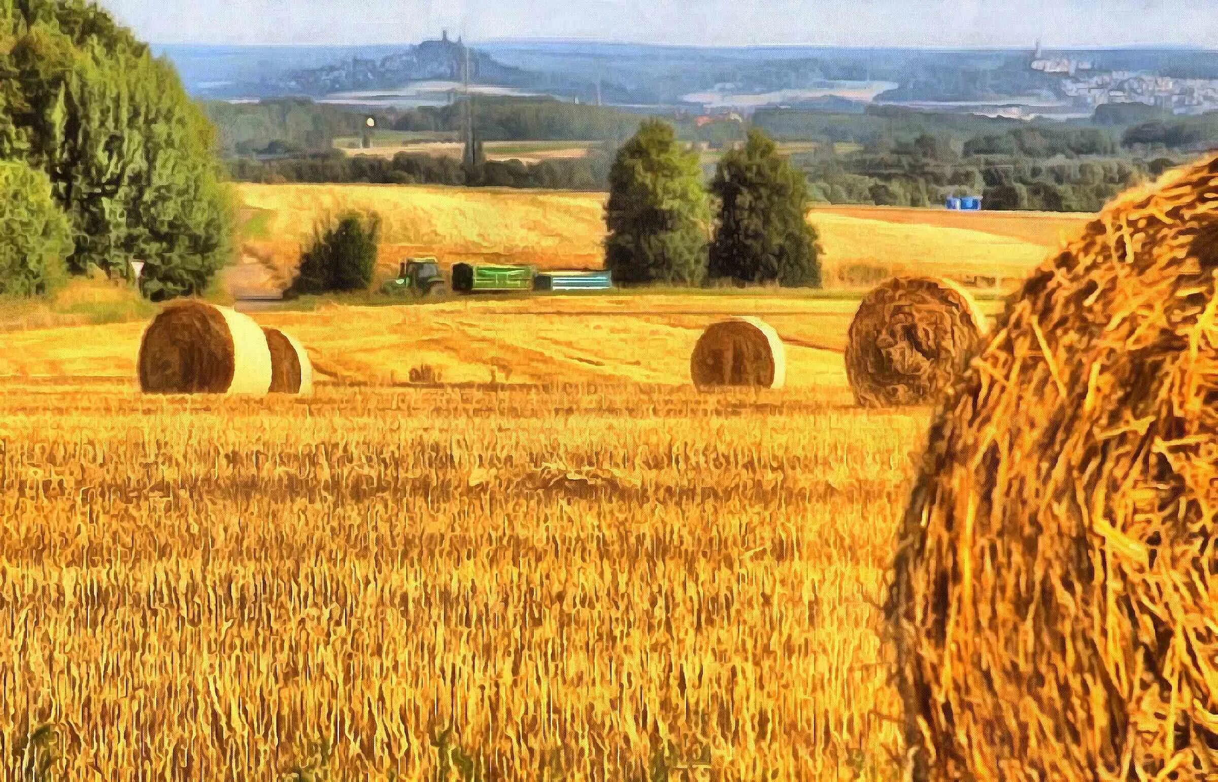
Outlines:
[[[167,305],[144,331],[145,393],[266,393],[270,351],[258,324],[200,301]]]

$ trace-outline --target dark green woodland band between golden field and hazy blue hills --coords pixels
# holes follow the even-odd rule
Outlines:
[[[334,139],[357,135],[364,114],[303,99],[208,104],[236,179],[368,181],[603,190],[613,149],[646,118],[618,108],[552,99],[479,99],[479,141],[587,140],[581,160],[465,162],[426,155],[347,157]],[[378,127],[459,138],[465,106],[379,112]],[[1141,105],[1101,106],[1080,122],[991,119],[895,106],[861,112],[761,110],[748,121],[663,117],[704,152],[708,178],[748,127],[783,145],[805,173],[810,197],[832,203],[926,206],[980,195],[985,208],[1095,211],[1130,184],[1218,147],[1218,112],[1180,117]]]

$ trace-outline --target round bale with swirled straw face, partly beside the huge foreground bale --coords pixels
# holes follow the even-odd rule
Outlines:
[[[845,373],[862,407],[937,402],[985,335],[985,315],[951,280],[898,277],[873,289],[850,322]]]

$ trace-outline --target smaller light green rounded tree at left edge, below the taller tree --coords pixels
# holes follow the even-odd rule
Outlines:
[[[66,277],[71,251],[72,231],[46,174],[0,161],[0,295],[50,292]]]

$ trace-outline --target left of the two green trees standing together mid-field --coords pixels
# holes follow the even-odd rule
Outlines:
[[[710,203],[698,155],[672,127],[644,122],[618,150],[605,206],[605,266],[621,283],[698,284],[706,274]]]

